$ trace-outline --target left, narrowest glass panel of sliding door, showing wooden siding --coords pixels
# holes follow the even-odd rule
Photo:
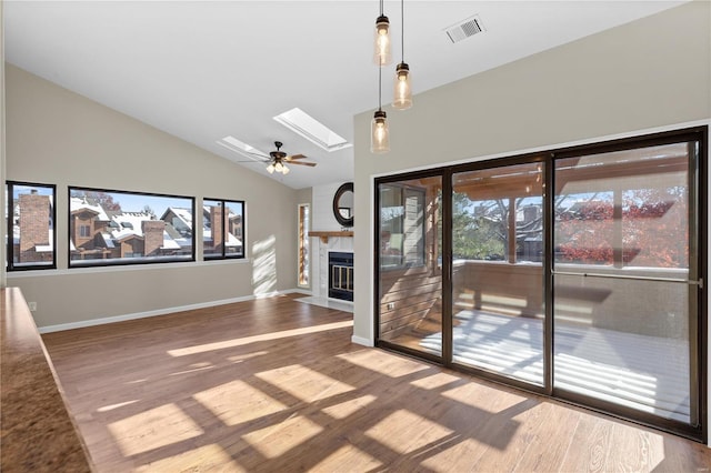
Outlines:
[[[442,180],[378,185],[380,342],[435,358],[442,353]]]

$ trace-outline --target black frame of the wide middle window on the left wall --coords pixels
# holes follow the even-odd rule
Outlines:
[[[107,194],[127,194],[127,195],[138,195],[138,197],[148,197],[148,198],[158,198],[158,199],[181,199],[190,201],[190,208],[193,215],[192,223],[192,244],[190,254],[184,256],[141,256],[141,258],[117,258],[117,259],[96,259],[96,260],[72,260],[72,223],[71,223],[71,199],[72,192],[74,191],[86,191],[86,192],[102,192]],[[167,210],[167,209],[166,209]],[[194,214],[196,214],[196,198],[190,195],[174,195],[174,194],[162,194],[156,192],[139,192],[139,191],[126,191],[118,189],[104,189],[104,188],[88,188],[82,185],[68,185],[67,187],[67,266],[70,270],[74,269],[90,269],[90,268],[107,268],[107,266],[127,266],[127,265],[143,265],[143,264],[170,264],[170,263],[188,263],[196,261],[196,231],[194,231]],[[72,264],[72,262],[83,261],[81,264]],[[86,261],[90,261],[86,263]]]

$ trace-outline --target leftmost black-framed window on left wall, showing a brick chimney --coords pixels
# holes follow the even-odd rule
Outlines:
[[[57,268],[54,185],[7,185],[8,271]]]

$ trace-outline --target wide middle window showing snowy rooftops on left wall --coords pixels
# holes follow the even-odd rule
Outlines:
[[[194,261],[194,199],[69,188],[69,268]]]

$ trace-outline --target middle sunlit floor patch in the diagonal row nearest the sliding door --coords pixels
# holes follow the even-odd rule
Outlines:
[[[410,411],[399,410],[365,431],[365,435],[404,454],[440,441],[453,431]]]

